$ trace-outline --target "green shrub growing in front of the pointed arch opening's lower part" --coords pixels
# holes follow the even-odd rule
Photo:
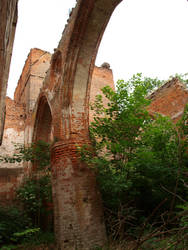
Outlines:
[[[37,141],[30,147],[19,145],[17,149],[14,159],[31,161],[36,166],[35,171],[17,189],[17,199],[32,218],[35,227],[51,230],[53,216],[52,210],[48,208],[48,203],[52,203],[50,145]]]

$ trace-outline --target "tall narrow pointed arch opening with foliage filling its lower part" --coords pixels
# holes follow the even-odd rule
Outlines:
[[[36,159],[32,162],[32,172],[34,178],[39,183],[43,182],[43,188],[47,190],[48,197],[43,199],[42,209],[45,211],[38,217],[38,224],[43,231],[54,230],[54,205],[52,199],[52,185],[51,185],[51,166],[50,166],[50,144],[53,141],[52,134],[52,113],[48,100],[45,96],[42,96],[38,102],[38,110],[34,126],[33,143]],[[36,144],[35,144],[36,143]],[[39,151],[38,151],[39,150]]]

